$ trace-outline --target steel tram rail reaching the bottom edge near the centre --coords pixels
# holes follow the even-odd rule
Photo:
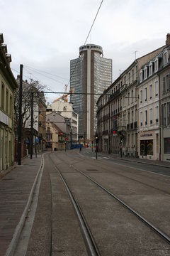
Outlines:
[[[51,159],[51,157],[50,157],[50,159]],[[88,224],[86,223],[86,219],[84,217],[84,214],[81,211],[79,204],[75,200],[72,191],[69,189],[69,186],[67,185],[67,182],[65,181],[64,176],[62,176],[60,169],[58,168],[58,166],[56,166],[54,164],[54,161],[52,161],[52,162],[53,162],[53,165],[54,165],[55,169],[57,170],[58,174],[60,175],[60,178],[62,179],[62,182],[64,183],[64,186],[67,189],[67,193],[69,194],[69,198],[72,201],[72,205],[74,206],[74,210],[75,210],[75,213],[77,214],[77,218],[79,220],[79,224],[81,227],[81,233],[83,234],[83,237],[84,237],[88,255],[101,256],[101,253],[98,250],[96,242],[93,238],[93,235],[91,233],[91,230],[90,230]]]

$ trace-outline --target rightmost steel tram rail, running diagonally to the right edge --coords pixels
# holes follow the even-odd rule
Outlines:
[[[159,230],[159,228],[156,228],[152,223],[150,223],[147,219],[145,219],[142,215],[140,215],[139,213],[137,213],[136,210],[134,210],[133,208],[131,208],[130,206],[128,206],[128,204],[126,204],[125,202],[123,202],[120,198],[118,198],[118,196],[115,196],[113,193],[111,193],[110,191],[108,191],[106,188],[104,188],[103,186],[101,186],[100,183],[98,183],[97,181],[94,181],[93,178],[89,177],[88,175],[84,174],[82,171],[80,171],[79,169],[77,169],[77,167],[73,166],[73,164],[71,164],[71,166],[79,171],[79,173],[83,174],[84,176],[86,176],[86,178],[89,178],[89,180],[93,181],[97,186],[99,186],[100,188],[103,189],[103,191],[105,191],[106,193],[108,193],[110,196],[112,196],[113,198],[115,198],[119,203],[121,203],[125,208],[128,208],[128,210],[131,211],[131,213],[133,213],[135,216],[137,216],[137,218],[139,218],[140,220],[142,220],[143,223],[145,223],[147,226],[149,226],[149,228],[151,228],[152,230],[154,230],[155,233],[157,233],[160,237],[164,238],[164,240],[166,240],[166,242],[170,243],[170,237],[168,235],[166,235],[164,232],[162,232],[162,230]]]

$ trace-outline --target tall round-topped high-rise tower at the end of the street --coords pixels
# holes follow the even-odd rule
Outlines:
[[[79,112],[79,135],[93,140],[96,133],[96,102],[112,83],[112,60],[103,58],[101,46],[79,47],[79,58],[70,61],[71,102]]]

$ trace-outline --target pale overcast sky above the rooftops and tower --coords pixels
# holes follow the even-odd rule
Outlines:
[[[0,33],[12,56],[13,75],[23,64],[24,80],[40,80],[47,90],[63,92],[70,60],[79,57],[100,4],[101,0],[0,0]],[[113,80],[135,60],[135,51],[139,58],[164,46],[170,33],[169,10],[169,0],[103,1],[87,43],[102,46],[103,57],[113,60]],[[47,101],[56,97],[47,95]]]

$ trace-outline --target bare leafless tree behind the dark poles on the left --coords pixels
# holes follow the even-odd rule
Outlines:
[[[19,78],[16,80],[19,85]],[[43,90],[45,86],[42,86],[39,81],[30,80],[23,81],[23,95],[22,95],[22,114],[21,114],[21,123],[22,123],[22,137],[25,138],[26,125],[28,124],[28,120],[30,119],[31,114],[31,92],[33,92],[33,108],[37,107],[39,104],[39,100],[45,102],[45,97]],[[41,93],[42,92],[42,93]],[[19,121],[19,87],[14,92],[14,123],[13,128],[18,134],[18,121]]]

